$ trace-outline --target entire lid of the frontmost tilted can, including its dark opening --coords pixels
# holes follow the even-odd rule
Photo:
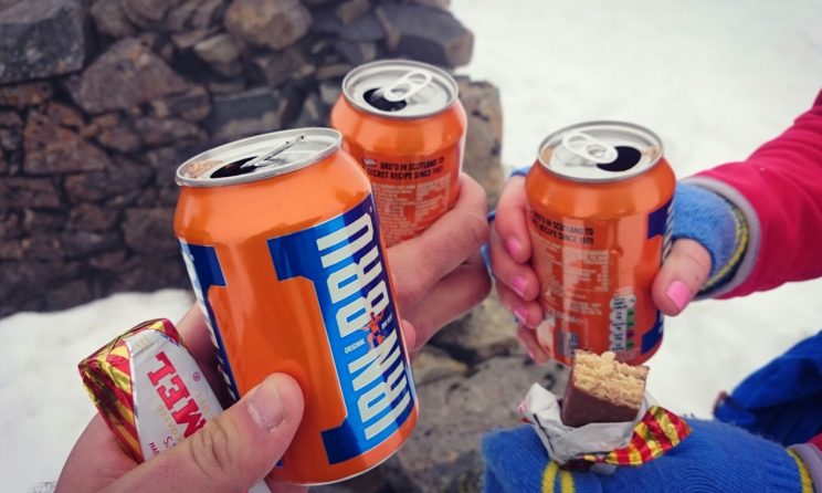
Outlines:
[[[339,149],[341,135],[331,128],[295,128],[224,144],[177,168],[177,183],[222,187],[262,180],[310,166]]]

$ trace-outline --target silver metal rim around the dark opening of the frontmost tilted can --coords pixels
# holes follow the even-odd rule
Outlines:
[[[211,178],[210,176],[191,177],[190,175],[183,174],[183,170],[192,162],[208,161],[208,160],[224,160],[225,164],[235,162],[240,159],[247,157],[256,157],[259,153],[251,153],[251,149],[264,149],[264,144],[272,139],[288,139],[298,137],[299,135],[320,136],[328,139],[328,146],[315,154],[306,156],[301,159],[296,159],[283,166],[271,166],[261,168],[260,171],[238,175],[225,178]],[[250,181],[257,181],[265,178],[285,175],[292,171],[310,166],[318,162],[331,154],[336,153],[340,148],[342,141],[342,134],[334,128],[325,127],[305,127],[305,128],[292,128],[287,130],[270,132],[266,134],[254,135],[245,137],[240,140],[233,140],[211,149],[204,150],[196,156],[192,156],[180,166],[177,167],[175,180],[179,186],[197,187],[197,188],[211,188],[211,187],[224,187],[229,185],[245,183]],[[243,153],[243,149],[246,149]],[[222,159],[221,159],[222,157]],[[215,167],[217,169],[217,167]]]

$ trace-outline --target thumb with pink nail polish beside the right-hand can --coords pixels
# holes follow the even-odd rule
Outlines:
[[[652,296],[665,315],[678,315],[710,273],[710,253],[698,242],[679,239],[654,279]]]

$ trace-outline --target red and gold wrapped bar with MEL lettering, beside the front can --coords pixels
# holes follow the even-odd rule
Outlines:
[[[80,375],[117,441],[143,462],[222,411],[167,319],[144,322],[83,359]]]

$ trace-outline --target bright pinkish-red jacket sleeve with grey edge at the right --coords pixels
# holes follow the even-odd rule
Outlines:
[[[748,159],[686,181],[723,196],[748,224],[746,253],[713,297],[822,276],[822,92],[793,126]]]

